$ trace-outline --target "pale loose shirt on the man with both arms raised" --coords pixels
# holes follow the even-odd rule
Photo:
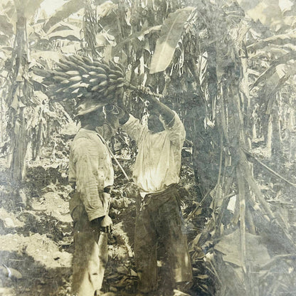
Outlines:
[[[144,192],[159,192],[179,182],[181,149],[186,133],[179,116],[174,113],[173,126],[168,127],[160,117],[164,131],[155,134],[132,115],[122,125],[122,129],[137,142],[133,179]]]

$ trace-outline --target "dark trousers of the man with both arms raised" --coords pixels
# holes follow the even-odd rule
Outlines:
[[[157,290],[157,250],[165,251],[165,275],[171,288],[192,280],[186,232],[176,186],[159,194],[139,196],[134,238],[134,259],[139,275],[138,290]]]

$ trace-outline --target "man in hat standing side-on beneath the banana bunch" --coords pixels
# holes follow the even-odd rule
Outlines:
[[[101,295],[108,254],[103,236],[112,231],[108,203],[114,181],[105,140],[118,127],[115,111],[112,105],[93,99],[84,100],[77,110],[81,128],[73,139],[69,159],[69,182],[75,189],[70,199],[75,245],[71,296]]]

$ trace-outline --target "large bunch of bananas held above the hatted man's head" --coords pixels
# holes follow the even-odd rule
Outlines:
[[[54,70],[34,68],[33,73],[43,77],[47,95],[56,100],[94,97],[110,102],[122,97],[125,68],[110,60],[91,60],[85,56],[65,56]]]

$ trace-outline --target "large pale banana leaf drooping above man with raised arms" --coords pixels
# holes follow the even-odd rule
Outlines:
[[[184,30],[184,24],[188,20],[193,7],[179,9],[171,14],[162,24],[160,37],[157,39],[154,55],[150,65],[150,73],[157,73],[165,70],[171,63],[174,51]]]

